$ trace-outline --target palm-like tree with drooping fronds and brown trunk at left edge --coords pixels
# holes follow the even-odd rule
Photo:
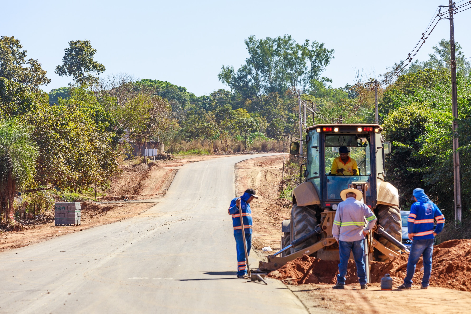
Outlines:
[[[38,150],[30,139],[32,127],[15,119],[0,122],[0,225],[13,224],[15,191],[28,185],[35,173]]]

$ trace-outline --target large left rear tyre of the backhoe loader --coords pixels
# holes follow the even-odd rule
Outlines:
[[[314,230],[318,224],[316,214],[316,209],[314,209],[313,206],[298,206],[296,203],[293,203],[291,209],[290,242],[293,242]],[[308,241],[291,248],[291,253],[307,248],[316,242],[317,237],[313,237]]]

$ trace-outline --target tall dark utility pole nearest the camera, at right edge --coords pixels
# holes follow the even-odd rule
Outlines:
[[[458,148],[458,97],[456,93],[456,57],[455,57],[455,29],[453,25],[453,0],[449,0],[450,13],[450,52],[451,52],[451,99],[453,111],[453,175],[455,178],[455,220],[461,221],[461,178],[460,154]]]

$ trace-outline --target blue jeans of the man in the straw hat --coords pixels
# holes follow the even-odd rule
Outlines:
[[[345,275],[347,274],[347,267],[349,266],[350,251],[353,252],[353,258],[355,264],[357,264],[357,276],[360,284],[366,283],[366,270],[365,262],[363,261],[363,255],[365,253],[365,247],[363,245],[364,240],[358,240],[353,242],[339,241],[339,274],[337,275],[337,282],[345,284]]]

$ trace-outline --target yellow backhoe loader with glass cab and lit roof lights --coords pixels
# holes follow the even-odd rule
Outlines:
[[[382,130],[378,124],[317,124],[306,129],[304,140],[291,143],[293,155],[299,156],[300,145],[307,148],[299,156],[306,158],[300,169],[304,182],[292,192],[291,219],[282,222],[281,250],[268,256],[268,263],[260,262],[260,270],[275,270],[303,254],[338,260],[333,218],[342,201],[341,191],[349,187],[362,191],[361,201],[377,217],[374,230],[365,239],[365,262],[392,259],[408,251],[401,243],[398,189],[384,181],[384,155],[390,153],[390,143],[384,141]],[[332,173],[341,147],[347,147],[349,161],[354,159],[358,170]]]

